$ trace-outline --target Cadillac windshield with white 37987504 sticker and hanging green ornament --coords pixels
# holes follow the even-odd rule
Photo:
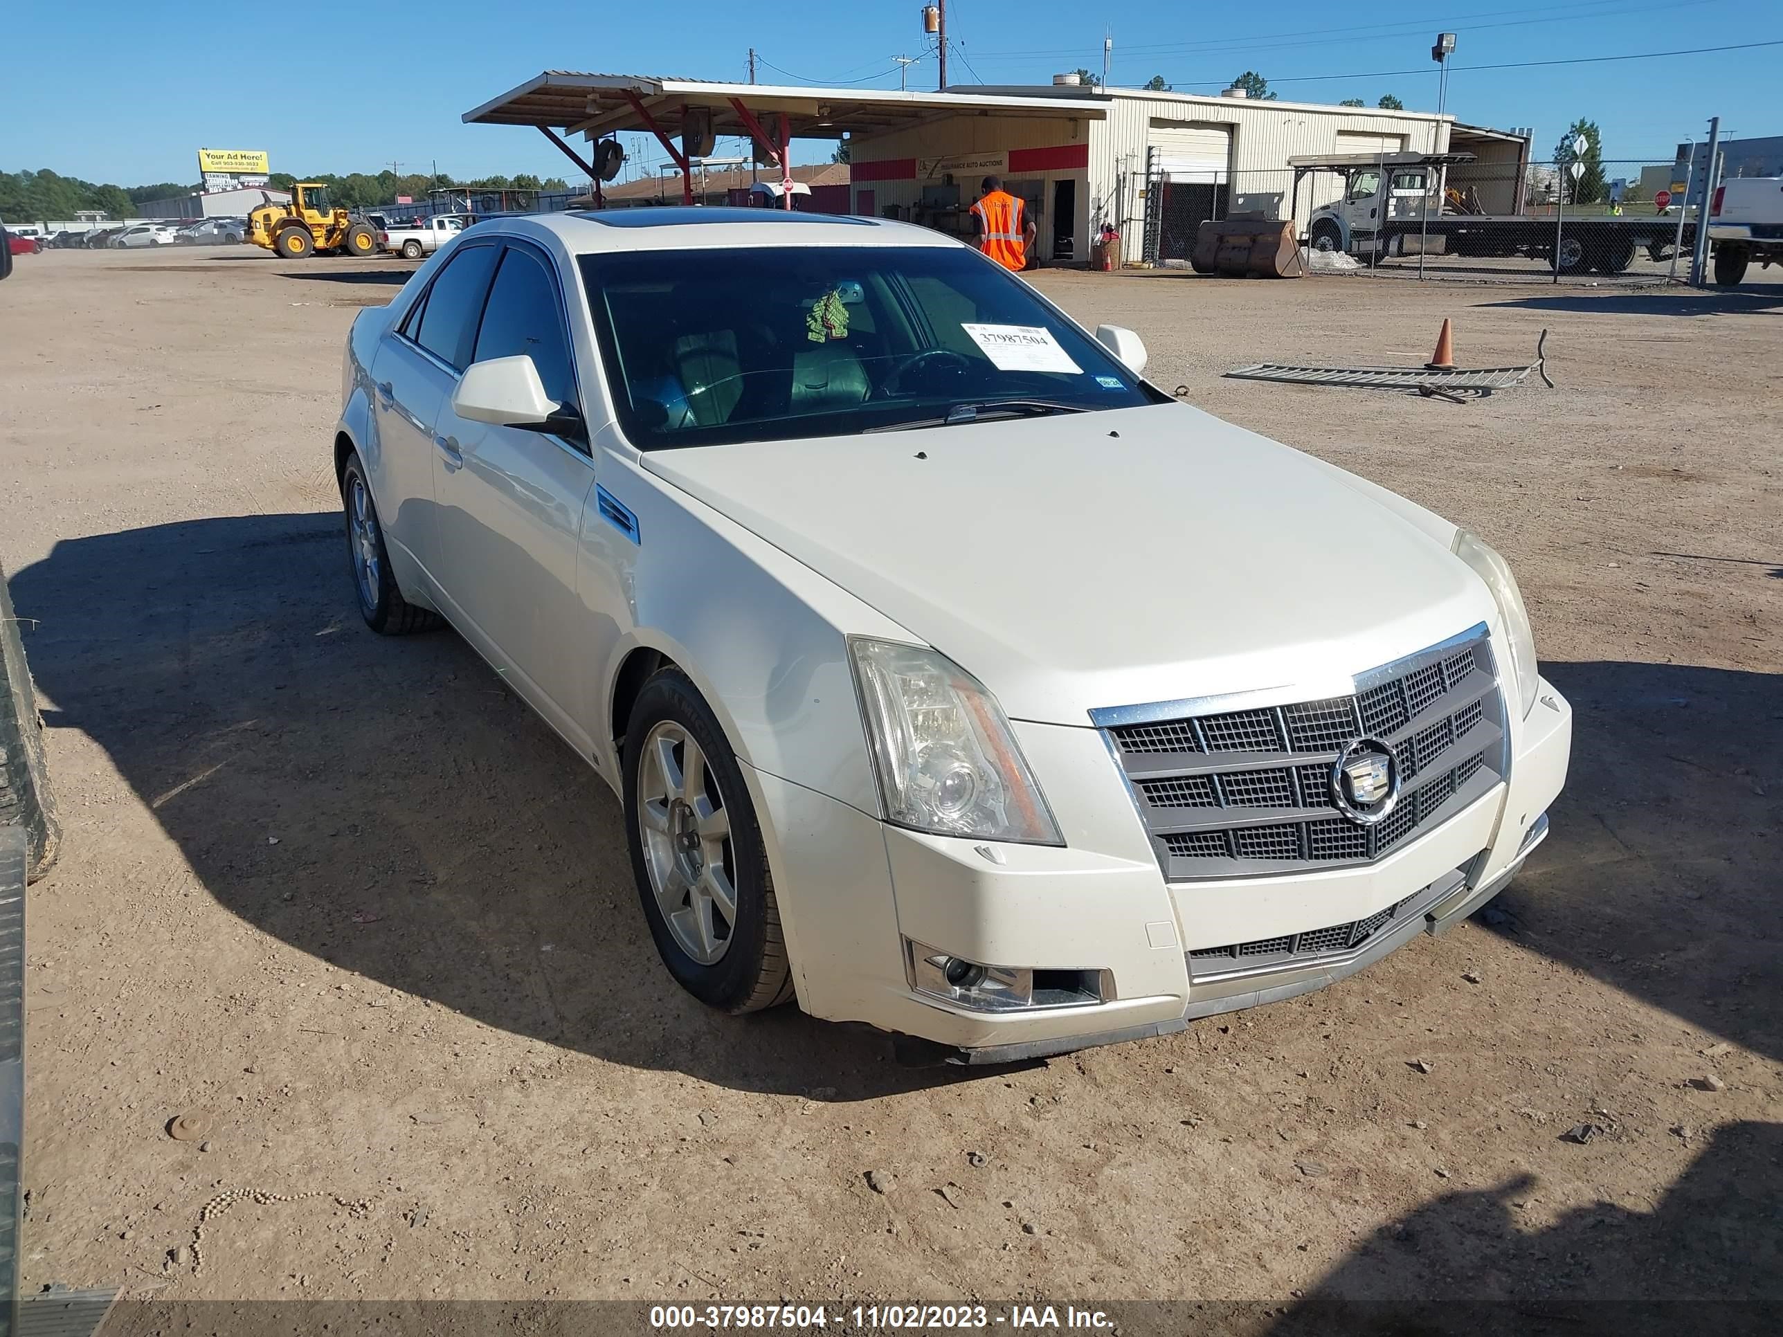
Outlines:
[[[581,267],[619,421],[640,449],[1163,399],[963,248],[631,251],[583,255]]]

